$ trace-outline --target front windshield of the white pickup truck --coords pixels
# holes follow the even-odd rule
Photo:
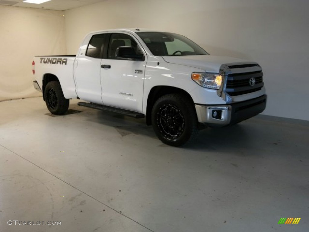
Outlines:
[[[155,56],[208,55],[200,46],[182,35],[167,32],[137,32]]]

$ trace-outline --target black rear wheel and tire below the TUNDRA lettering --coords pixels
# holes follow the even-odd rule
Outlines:
[[[65,114],[69,108],[70,100],[63,96],[61,85],[58,81],[51,81],[46,85],[44,98],[47,109],[52,114]]]

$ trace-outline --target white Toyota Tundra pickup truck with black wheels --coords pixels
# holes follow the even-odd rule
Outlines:
[[[75,56],[36,56],[34,88],[52,114],[78,105],[146,117],[171,146],[199,129],[235,124],[266,107],[256,62],[211,56],[179,34],[144,29],[89,33]]]

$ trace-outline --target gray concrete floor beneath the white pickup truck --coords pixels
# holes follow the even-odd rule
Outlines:
[[[308,231],[308,122],[256,117],[174,148],[77,102],[0,102],[0,231]]]

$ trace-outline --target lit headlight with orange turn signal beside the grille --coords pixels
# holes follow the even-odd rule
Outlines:
[[[222,75],[218,73],[197,73],[191,75],[197,84],[205,88],[219,89],[222,84]]]

